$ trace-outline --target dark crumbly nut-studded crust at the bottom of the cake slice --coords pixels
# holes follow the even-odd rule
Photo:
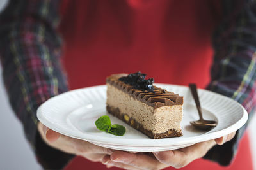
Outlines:
[[[141,125],[140,123],[136,122],[136,120],[134,120],[134,118],[130,118],[125,113],[120,113],[119,108],[115,108],[113,106],[107,105],[107,111],[108,111],[108,113],[110,113],[111,115],[119,118],[120,120],[122,120],[126,124],[130,125],[134,129],[136,129],[140,132],[143,132],[143,134],[146,134],[149,138],[161,139],[161,138],[170,138],[170,137],[182,136],[182,132],[177,131],[176,129],[169,129],[168,131],[166,131],[164,133],[157,133],[157,134],[153,133],[152,131],[149,131],[148,129],[145,129],[143,127],[143,125]]]

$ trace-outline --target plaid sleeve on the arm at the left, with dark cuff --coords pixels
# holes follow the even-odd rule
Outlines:
[[[36,109],[67,91],[61,67],[57,0],[12,0],[0,15],[0,59],[11,106],[26,138],[45,169],[61,169],[73,155],[60,152],[40,138]]]

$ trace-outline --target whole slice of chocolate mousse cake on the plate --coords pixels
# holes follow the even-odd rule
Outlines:
[[[113,74],[107,83],[107,110],[152,139],[182,136],[183,97],[153,85],[146,74]]]

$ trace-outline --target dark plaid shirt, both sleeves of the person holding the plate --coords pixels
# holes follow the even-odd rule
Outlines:
[[[205,159],[228,165],[256,106],[256,3],[223,0],[223,20],[212,36],[214,63],[208,90],[243,104],[249,121],[232,141],[214,146]],[[44,168],[61,169],[73,155],[60,152],[40,138],[36,109],[68,90],[60,62],[61,39],[56,32],[60,1],[11,0],[0,15],[0,59],[10,103],[26,138]],[[58,158],[58,159],[56,159]]]

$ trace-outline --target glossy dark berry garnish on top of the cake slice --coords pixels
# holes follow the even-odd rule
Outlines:
[[[138,90],[154,92],[154,78],[145,79],[146,76],[147,74],[143,74],[138,71],[137,73],[131,73],[128,76],[120,77],[118,80],[132,85]]]

